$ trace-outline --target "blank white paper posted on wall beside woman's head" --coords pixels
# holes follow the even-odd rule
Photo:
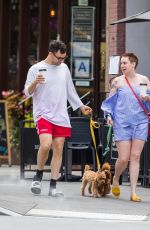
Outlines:
[[[108,74],[119,73],[120,56],[111,56],[109,60],[109,72]]]

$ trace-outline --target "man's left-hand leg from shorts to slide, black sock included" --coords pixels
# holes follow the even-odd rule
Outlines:
[[[31,184],[31,192],[34,194],[41,193],[41,181],[43,177],[43,169],[48,159],[49,150],[52,143],[52,135],[41,134],[39,135],[39,140],[40,140],[40,147],[37,154],[37,172]]]

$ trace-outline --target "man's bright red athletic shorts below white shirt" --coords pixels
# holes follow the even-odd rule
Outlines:
[[[49,133],[52,134],[52,137],[70,137],[71,128],[55,125],[44,118],[40,118],[37,121],[37,133],[38,135]]]

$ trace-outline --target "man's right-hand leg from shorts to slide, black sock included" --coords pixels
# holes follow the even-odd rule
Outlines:
[[[59,176],[61,164],[62,164],[62,153],[64,146],[64,137],[57,137],[53,139],[52,147],[53,147],[53,157],[51,161],[51,181],[50,181],[50,196],[63,196],[62,192],[56,191],[56,182]]]

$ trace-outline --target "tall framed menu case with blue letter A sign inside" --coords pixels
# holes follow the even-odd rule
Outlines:
[[[82,86],[83,80],[93,80],[94,13],[94,7],[72,7],[71,73]]]

